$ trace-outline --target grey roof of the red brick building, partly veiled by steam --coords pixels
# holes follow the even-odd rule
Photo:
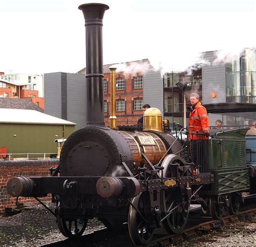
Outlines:
[[[136,66],[139,66],[136,70],[142,71],[143,64],[147,64],[148,66],[145,67],[145,69],[150,69],[152,68],[152,65],[150,65],[149,59],[143,59],[143,60],[137,60],[137,61],[131,61],[131,62],[119,62],[119,63],[111,63],[109,65],[103,65],[103,74],[110,74],[110,67],[116,67],[117,72],[132,72],[134,69],[136,69]],[[119,71],[118,71],[119,70]],[[86,67],[80,69],[77,74],[86,74]]]

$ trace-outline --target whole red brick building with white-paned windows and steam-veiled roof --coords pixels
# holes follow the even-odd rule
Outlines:
[[[111,75],[110,67],[116,67],[116,116],[117,125],[137,124],[143,115],[144,72],[152,68],[149,60],[138,60],[104,65],[104,121],[109,126],[111,113]],[[85,74],[86,68],[78,74]]]

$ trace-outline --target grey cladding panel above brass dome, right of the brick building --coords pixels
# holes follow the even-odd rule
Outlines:
[[[158,108],[164,114],[163,76],[160,71],[147,70],[143,75],[143,103]]]

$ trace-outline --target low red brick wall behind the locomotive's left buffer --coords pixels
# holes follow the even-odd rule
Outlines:
[[[12,177],[46,177],[50,176],[49,168],[56,167],[56,165],[0,165],[0,213],[4,211],[5,207],[15,206],[16,197],[11,197],[7,193],[6,184]],[[42,201],[50,200],[48,197],[42,197]],[[19,197],[18,203],[36,202],[33,197]]]

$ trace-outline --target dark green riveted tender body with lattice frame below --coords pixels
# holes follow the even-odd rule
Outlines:
[[[208,165],[214,175],[214,184],[208,194],[221,195],[250,188],[246,166],[247,130],[219,132],[208,140]]]

